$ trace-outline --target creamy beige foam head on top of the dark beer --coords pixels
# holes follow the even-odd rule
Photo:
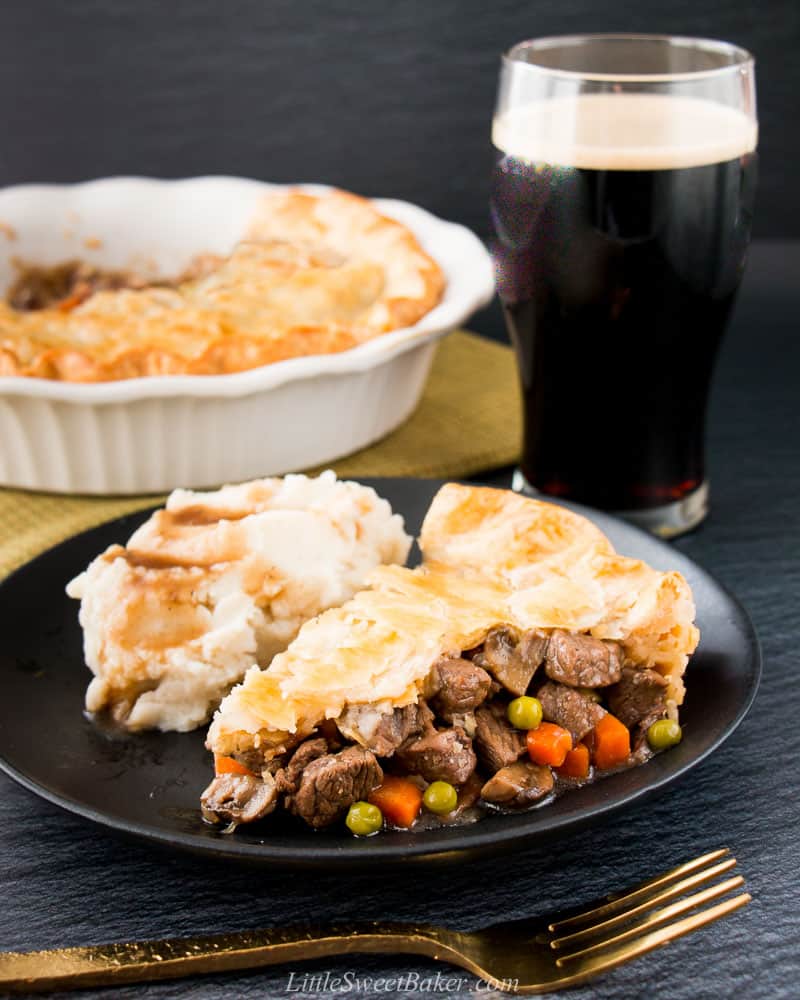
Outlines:
[[[666,94],[580,94],[499,113],[492,142],[507,156],[587,170],[677,170],[734,160],[756,147],[743,111]]]

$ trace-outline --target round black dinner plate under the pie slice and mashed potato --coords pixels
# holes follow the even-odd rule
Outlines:
[[[418,479],[369,481],[416,534],[440,483]],[[570,505],[572,506],[572,505]],[[124,543],[148,511],[77,535],[0,584],[0,767],[50,802],[120,833],[220,858],[277,865],[385,864],[508,850],[536,838],[598,822],[605,814],[675,781],[707,757],[741,722],[758,687],[761,660],[744,609],[716,580],[665,542],[606,514],[575,506],[619,552],[689,580],[702,638],[686,674],[683,741],[647,764],[566,793],[515,816],[488,815],[468,826],[389,832],[356,839],[342,826],[313,832],[274,815],[223,835],[204,824],[201,791],[212,776],[193,733],[129,735],[83,715],[89,680],[78,604],[65,584],[106,546]]]

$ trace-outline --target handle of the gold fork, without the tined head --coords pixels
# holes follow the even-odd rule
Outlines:
[[[0,952],[0,992],[30,993],[177,979],[359,952],[452,960],[455,953],[448,947],[446,936],[447,932],[434,927],[375,921],[51,951]]]

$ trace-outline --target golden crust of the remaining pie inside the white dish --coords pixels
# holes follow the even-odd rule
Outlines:
[[[191,269],[190,269],[191,270]],[[404,225],[345,191],[266,195],[227,258],[174,287],[0,303],[0,375],[73,382],[215,375],[348,350],[411,326],[444,275]]]

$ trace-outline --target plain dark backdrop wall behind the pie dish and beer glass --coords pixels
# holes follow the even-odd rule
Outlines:
[[[800,236],[797,0],[3,0],[0,184],[322,181],[484,234],[499,54],[582,31],[755,53],[756,236]]]

